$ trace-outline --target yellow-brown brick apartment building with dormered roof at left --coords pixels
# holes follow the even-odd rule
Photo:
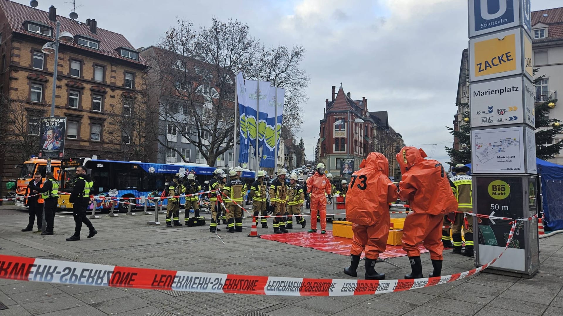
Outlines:
[[[14,100],[24,104],[29,132],[37,129],[39,118],[50,115],[55,54],[41,49],[54,40],[56,21],[61,33],[74,37],[60,42],[57,61],[55,116],[67,118],[65,157],[123,159],[123,151],[116,149],[123,137],[108,117],[131,115],[147,65],[122,34],[97,27],[95,19],[83,23],[57,16],[53,6],[46,12],[0,0],[0,92],[10,106],[18,106]],[[4,179],[17,177],[14,165],[20,160],[0,154]]]

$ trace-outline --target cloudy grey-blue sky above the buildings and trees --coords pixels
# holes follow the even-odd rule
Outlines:
[[[17,2],[29,4],[27,0]],[[39,0],[68,16],[72,0]],[[175,17],[209,25],[211,17],[247,23],[267,46],[302,45],[302,67],[311,78],[302,105],[302,132],[312,159],[331,87],[354,100],[366,97],[369,111],[389,113],[406,145],[432,159],[449,161],[444,146],[452,126],[461,52],[467,48],[466,0],[77,0],[78,20],[124,34],[134,47],[158,42]],[[532,10],[562,6],[561,0],[531,0]],[[297,139],[298,140],[298,139]],[[436,145],[433,145],[436,144]]]

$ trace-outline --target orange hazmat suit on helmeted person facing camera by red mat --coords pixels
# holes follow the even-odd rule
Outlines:
[[[307,192],[311,192],[311,216],[314,216],[317,211],[320,213],[320,229],[325,231],[327,229],[327,195],[330,195],[330,181],[324,174],[315,172],[312,177],[307,179]],[[311,220],[311,229],[316,229],[316,220]]]

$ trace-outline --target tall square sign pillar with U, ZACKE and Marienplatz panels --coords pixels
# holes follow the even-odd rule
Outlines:
[[[471,167],[477,214],[537,214],[530,0],[468,0]],[[506,246],[508,220],[473,218],[475,263]],[[517,222],[509,248],[485,271],[531,277],[539,268],[537,218]]]

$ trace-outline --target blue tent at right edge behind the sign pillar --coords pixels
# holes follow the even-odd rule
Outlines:
[[[550,231],[563,229],[563,166],[535,159],[540,179],[540,195],[545,217],[544,227]],[[467,164],[471,168],[471,164]]]

